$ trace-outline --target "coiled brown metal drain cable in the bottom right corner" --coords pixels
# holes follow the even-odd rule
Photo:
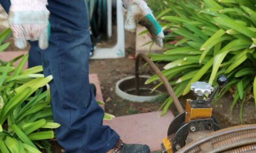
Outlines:
[[[215,131],[196,139],[178,152],[256,152],[256,125],[234,126]]]

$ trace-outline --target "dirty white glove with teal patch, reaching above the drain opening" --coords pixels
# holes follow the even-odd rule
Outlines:
[[[135,31],[137,23],[143,25],[153,36],[158,46],[163,46],[164,33],[162,27],[156,21],[151,9],[144,0],[122,0],[127,8],[125,29]]]

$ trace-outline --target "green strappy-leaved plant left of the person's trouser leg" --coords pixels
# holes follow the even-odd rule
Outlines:
[[[0,33],[0,43],[10,35],[10,29]],[[2,44],[3,51],[9,42]],[[52,129],[60,125],[52,121],[51,97],[42,66],[23,70],[28,55],[0,63],[0,152],[51,152],[47,141],[54,138]],[[17,67],[13,63],[21,59]],[[44,91],[42,87],[47,86]]]

